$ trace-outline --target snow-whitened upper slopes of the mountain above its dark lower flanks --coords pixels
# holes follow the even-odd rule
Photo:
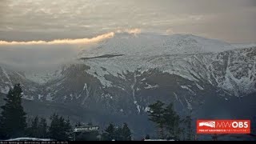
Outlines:
[[[107,74],[124,78],[127,71],[158,69],[192,81],[204,78],[238,96],[255,90],[255,47],[194,35],[117,34],[96,47],[83,50],[79,58],[90,66],[88,72],[104,86],[113,86],[106,80]],[[243,50],[246,48],[252,49]],[[225,70],[218,68],[217,63]],[[241,70],[246,71],[238,78]]]

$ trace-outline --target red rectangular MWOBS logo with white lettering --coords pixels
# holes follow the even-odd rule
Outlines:
[[[198,120],[198,134],[250,134],[250,120]]]

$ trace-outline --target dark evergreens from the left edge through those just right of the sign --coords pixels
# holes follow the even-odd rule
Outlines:
[[[2,112],[0,115],[0,140],[30,137],[69,141],[74,137],[74,127],[84,126],[80,122],[72,126],[69,118],[64,118],[58,114],[52,114],[48,119],[50,122],[47,122],[46,118],[39,118],[38,116],[33,118],[32,122],[27,122],[26,112],[22,107],[22,87],[20,84],[14,85],[14,88],[9,90],[4,101],[6,103],[1,106]],[[86,126],[93,126],[93,123],[89,122]],[[100,136],[100,139],[98,136]],[[127,123],[123,123],[123,126],[114,126],[113,123],[110,123],[102,134],[98,131],[76,134],[76,140],[81,141],[108,141],[113,139],[129,141],[131,137],[132,134]]]

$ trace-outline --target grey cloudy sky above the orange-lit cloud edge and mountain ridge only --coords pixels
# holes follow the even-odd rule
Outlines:
[[[256,0],[1,0],[0,40],[91,38],[138,28],[256,42]]]

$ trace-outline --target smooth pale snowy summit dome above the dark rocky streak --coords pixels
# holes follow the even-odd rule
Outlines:
[[[162,54],[196,54],[221,52],[234,49],[229,43],[194,35],[116,34],[90,50],[84,50],[81,57],[91,58],[103,54],[125,54],[155,56]]]

